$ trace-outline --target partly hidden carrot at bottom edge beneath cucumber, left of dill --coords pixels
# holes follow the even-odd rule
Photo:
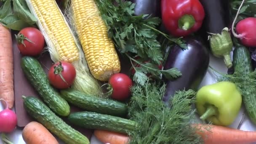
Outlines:
[[[104,144],[128,144],[129,137],[112,131],[94,130],[96,136]]]

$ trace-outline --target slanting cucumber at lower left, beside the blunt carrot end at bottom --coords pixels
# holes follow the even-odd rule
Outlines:
[[[32,96],[22,96],[23,105],[30,116],[43,124],[51,133],[55,134],[66,144],[90,144],[86,136],[67,125],[55,115],[40,99]]]

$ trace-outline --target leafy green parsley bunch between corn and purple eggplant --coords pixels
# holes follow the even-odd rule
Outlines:
[[[156,17],[147,18],[147,15],[135,16],[135,4],[129,1],[116,0],[114,5],[109,0],[95,0],[101,17],[107,24],[109,37],[112,38],[115,47],[120,53],[133,62],[140,64],[141,68],[134,68],[133,75],[135,83],[144,85],[147,81],[147,74],[152,74],[161,79],[161,74],[168,77],[179,77],[181,73],[176,69],[159,70],[157,66],[163,61],[163,52],[158,35],[161,34],[169,43],[178,43],[183,48],[187,45],[180,38],[171,38],[156,29],[161,20]],[[115,15],[115,19],[113,19]],[[135,58],[139,56],[142,61]],[[150,61],[149,64],[143,64]]]

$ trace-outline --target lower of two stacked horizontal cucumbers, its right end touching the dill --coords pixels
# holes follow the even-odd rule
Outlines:
[[[75,112],[68,116],[73,125],[83,128],[101,129],[117,133],[129,133],[136,127],[136,122],[112,115],[96,112]]]

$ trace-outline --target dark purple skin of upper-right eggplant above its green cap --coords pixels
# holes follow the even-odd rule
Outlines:
[[[224,27],[231,28],[230,0],[200,0],[205,10],[205,19],[199,31],[203,39],[208,41],[208,33],[221,34]]]

